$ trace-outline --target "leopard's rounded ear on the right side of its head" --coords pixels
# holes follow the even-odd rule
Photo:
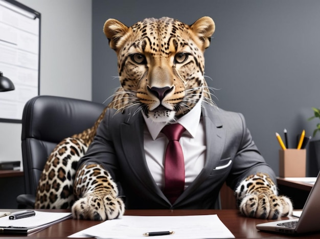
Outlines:
[[[191,30],[201,40],[203,49],[210,46],[211,36],[215,31],[215,23],[209,16],[199,18],[194,24],[190,26]]]

